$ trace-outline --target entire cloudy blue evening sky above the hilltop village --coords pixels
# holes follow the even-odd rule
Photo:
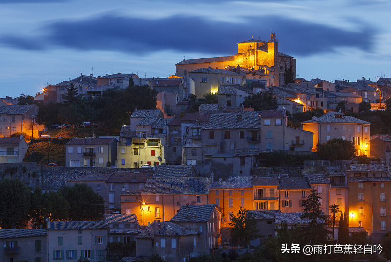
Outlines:
[[[298,77],[391,77],[391,0],[0,0],[0,97],[106,73],[175,74],[268,40]]]

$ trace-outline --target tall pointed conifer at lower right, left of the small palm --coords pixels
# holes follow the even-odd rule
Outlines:
[[[304,238],[308,243],[324,244],[327,242],[330,231],[325,228],[327,216],[320,209],[319,193],[315,189],[311,190],[311,194],[307,197],[304,204],[303,214],[301,219],[309,220],[308,225],[303,227]]]

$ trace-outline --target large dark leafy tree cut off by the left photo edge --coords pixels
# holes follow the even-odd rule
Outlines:
[[[0,182],[0,227],[23,228],[29,220],[30,190],[19,179]]]

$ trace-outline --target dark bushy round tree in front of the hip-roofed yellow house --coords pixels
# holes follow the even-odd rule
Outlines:
[[[356,148],[351,141],[334,138],[326,143],[317,143],[316,150],[322,159],[350,160],[355,156]]]

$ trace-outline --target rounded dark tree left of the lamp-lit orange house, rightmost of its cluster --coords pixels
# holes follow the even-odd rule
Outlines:
[[[64,186],[59,190],[70,205],[70,221],[99,220],[104,214],[103,197],[85,183]]]

